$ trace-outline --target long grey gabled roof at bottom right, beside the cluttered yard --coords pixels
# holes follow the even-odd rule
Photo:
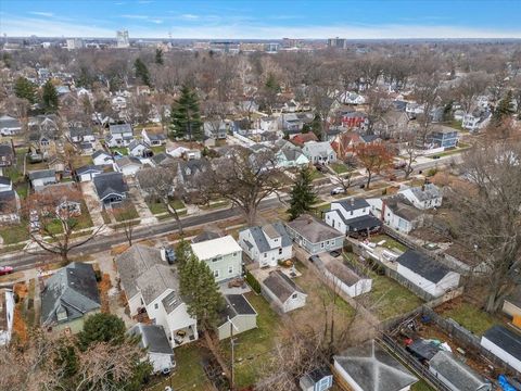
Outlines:
[[[437,352],[429,362],[429,368],[434,369],[460,391],[475,391],[487,383],[450,352]]]

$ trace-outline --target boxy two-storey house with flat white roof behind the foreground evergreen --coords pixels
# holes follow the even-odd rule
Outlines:
[[[217,282],[242,276],[242,249],[231,236],[192,243],[192,251],[205,262]]]

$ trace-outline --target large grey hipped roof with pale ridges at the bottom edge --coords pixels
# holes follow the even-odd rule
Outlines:
[[[399,391],[418,381],[374,340],[347,349],[334,361],[364,391]]]

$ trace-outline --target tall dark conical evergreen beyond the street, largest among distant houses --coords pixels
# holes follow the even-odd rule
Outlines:
[[[181,96],[171,105],[170,123],[170,130],[175,138],[189,141],[203,140],[198,96],[187,86],[181,88]]]

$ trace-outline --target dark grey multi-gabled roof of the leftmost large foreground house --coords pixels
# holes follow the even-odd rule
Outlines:
[[[94,269],[87,263],[72,263],[54,273],[41,292],[41,323],[56,323],[65,310],[69,321],[101,307]],[[59,321],[58,321],[59,323]]]

